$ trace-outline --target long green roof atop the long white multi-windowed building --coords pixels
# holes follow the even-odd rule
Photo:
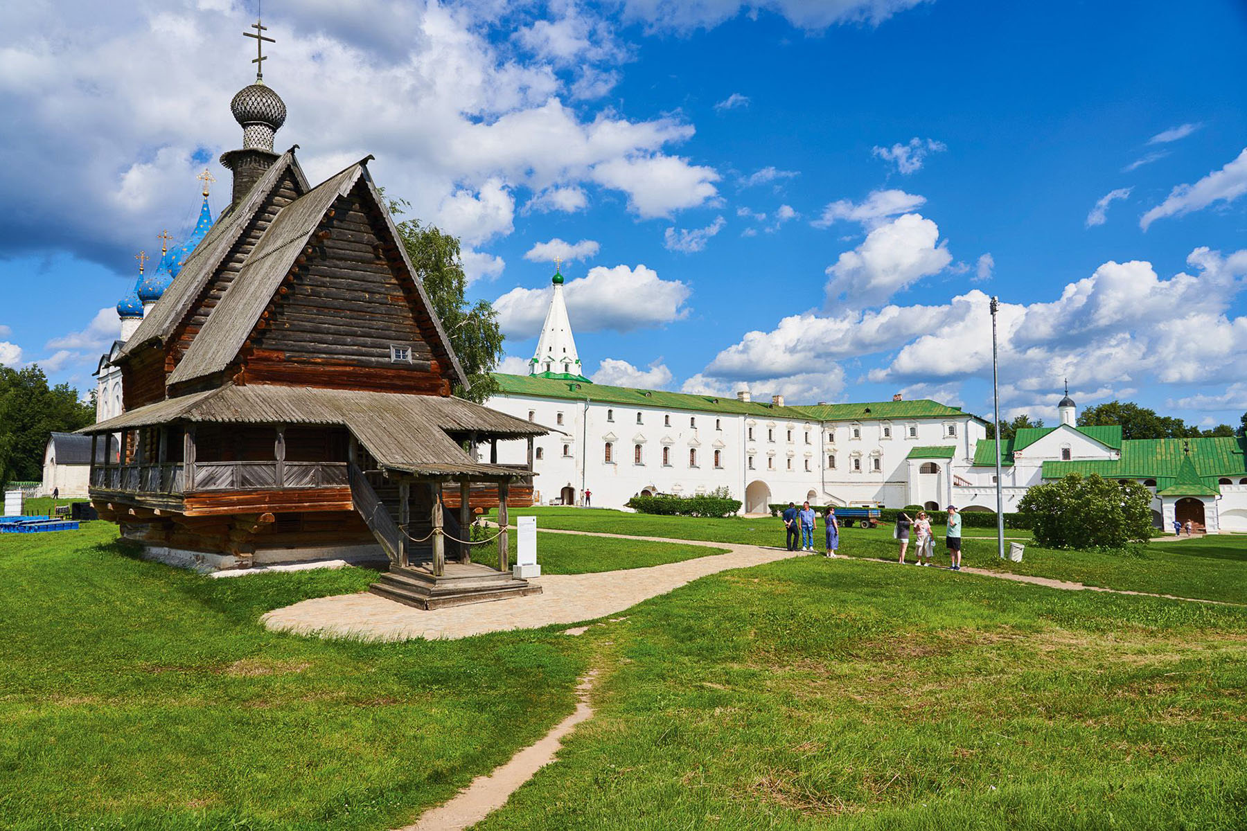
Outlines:
[[[859,421],[864,419],[920,419],[959,416],[970,414],[949,407],[938,401],[868,401],[865,404],[819,404],[814,406],[776,406],[766,401],[738,401],[734,397],[668,392],[666,390],[641,390],[626,386],[607,386],[572,378],[541,378],[540,375],[506,375],[495,373],[499,390],[505,395],[531,395],[546,399],[567,399],[600,404],[666,407],[668,410],[695,410],[722,412],[725,415],[751,415],[759,419],[782,417],[806,421]],[[978,416],[970,416],[978,419]]]

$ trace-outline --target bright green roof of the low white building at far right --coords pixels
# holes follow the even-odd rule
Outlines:
[[[1153,478],[1161,492],[1170,492],[1175,486],[1187,490],[1195,487],[1193,472],[1203,491],[1216,490],[1220,493],[1218,478],[1247,477],[1243,445],[1245,440],[1237,436],[1127,439],[1121,442],[1120,460],[1047,461],[1044,462],[1044,478],[1060,478],[1069,473],[1084,476],[1099,473],[1105,478]],[[1190,447],[1190,457],[1186,447]],[[1181,481],[1186,467],[1190,467],[1190,471],[1185,473],[1186,481]],[[1208,495],[1182,493],[1182,496]]]

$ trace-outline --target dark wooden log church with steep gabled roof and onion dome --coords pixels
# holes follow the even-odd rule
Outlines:
[[[123,412],[81,431],[107,445],[100,516],[208,568],[374,553],[373,591],[420,608],[539,592],[510,572],[505,515],[531,503],[545,430],[451,395],[466,376],[372,157],[312,187],[273,152],[286,105],[261,74],[232,111],[233,201],[117,350]],[[499,465],[516,439],[527,465]],[[470,512],[494,505],[493,564],[473,562]]]

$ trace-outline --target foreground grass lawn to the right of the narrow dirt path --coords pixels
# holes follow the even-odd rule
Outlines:
[[[804,557],[585,637],[595,719],[479,829],[1247,825],[1245,609]]]

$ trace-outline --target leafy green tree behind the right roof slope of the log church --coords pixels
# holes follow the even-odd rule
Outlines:
[[[405,199],[387,199],[390,213],[398,216],[409,206]],[[436,226],[423,224],[419,219],[405,219],[398,224],[407,255],[424,282],[433,308],[441,319],[441,326],[450,338],[450,345],[468,374],[470,389],[458,384],[454,394],[484,402],[498,391],[498,381],[490,373],[503,359],[503,330],[498,325],[498,311],[489,300],[469,304],[464,298],[468,277],[464,274],[459,239],[443,233]]]

